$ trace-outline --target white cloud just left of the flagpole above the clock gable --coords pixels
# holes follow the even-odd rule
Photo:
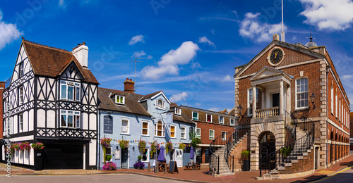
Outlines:
[[[261,13],[246,13],[244,20],[240,23],[239,34],[242,37],[254,39],[256,42],[268,42],[272,40],[273,34],[282,32],[282,24],[268,24],[258,21]]]

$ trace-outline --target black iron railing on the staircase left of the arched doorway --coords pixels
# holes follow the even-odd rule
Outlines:
[[[250,122],[250,118],[249,118]],[[239,125],[235,127],[234,130],[221,134],[219,137],[215,138],[210,144],[210,168],[213,172],[220,174],[220,156],[222,153],[215,153],[215,151],[223,151],[223,157],[228,165],[232,168],[234,172],[234,156],[231,155],[234,145],[244,137],[246,133],[250,131],[250,123],[246,122],[245,125]]]

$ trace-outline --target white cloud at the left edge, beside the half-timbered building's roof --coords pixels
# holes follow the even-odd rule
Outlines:
[[[2,12],[0,11],[0,50],[4,49],[6,44],[10,44],[13,40],[18,39],[23,32],[20,32],[16,24],[4,23],[2,21]]]

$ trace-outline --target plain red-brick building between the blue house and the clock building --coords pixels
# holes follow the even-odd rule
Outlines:
[[[189,106],[180,106],[180,108],[193,122],[196,122],[196,134],[202,141],[196,149],[196,161],[209,163],[210,143],[217,137],[227,139],[227,132],[234,130],[234,115],[229,115],[225,111],[214,112]],[[234,113],[232,111],[230,113]]]

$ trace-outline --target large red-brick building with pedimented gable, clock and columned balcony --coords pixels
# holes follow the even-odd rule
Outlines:
[[[234,79],[237,121],[251,121],[251,170],[310,172],[349,156],[350,103],[325,46],[275,34]]]

